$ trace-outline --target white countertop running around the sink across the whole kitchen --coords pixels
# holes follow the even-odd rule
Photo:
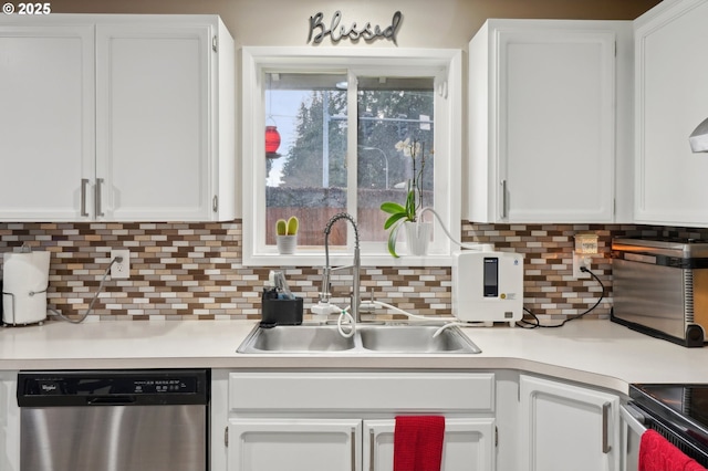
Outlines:
[[[4,327],[0,369],[519,369],[627,393],[632,383],[708,383],[708,347],[685,348],[610,321],[561,328],[466,327],[477,355],[243,355],[253,321],[118,321]]]

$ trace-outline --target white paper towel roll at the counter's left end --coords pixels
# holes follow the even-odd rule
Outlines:
[[[50,252],[6,252],[2,268],[2,321],[32,324],[46,318]]]

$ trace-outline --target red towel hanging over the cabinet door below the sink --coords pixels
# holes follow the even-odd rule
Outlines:
[[[445,417],[396,417],[394,471],[440,471]]]

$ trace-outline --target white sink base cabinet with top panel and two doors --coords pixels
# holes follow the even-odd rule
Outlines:
[[[217,375],[218,377],[218,375]],[[388,471],[395,417],[444,416],[444,471],[493,471],[489,373],[231,373],[228,471]]]

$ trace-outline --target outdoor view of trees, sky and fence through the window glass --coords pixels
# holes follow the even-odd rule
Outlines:
[[[271,72],[273,74],[273,72]],[[277,73],[267,80],[267,124],[280,125],[278,159],[267,159],[267,243],[273,244],[278,219],[299,217],[300,245],[321,245],[322,228],[347,205],[346,75]],[[379,210],[383,201],[405,200],[412,178],[410,158],[399,143],[434,148],[433,77],[360,77],[357,86],[356,218],[363,241],[386,240]],[[275,109],[275,112],[273,112]],[[430,154],[433,157],[434,154]],[[435,160],[424,175],[426,206],[434,202]],[[346,244],[344,230],[333,232],[333,245]]]

